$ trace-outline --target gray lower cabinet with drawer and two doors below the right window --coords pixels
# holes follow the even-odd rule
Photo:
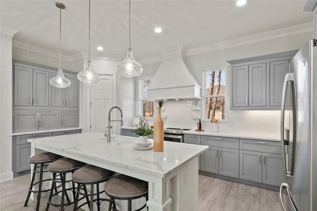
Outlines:
[[[239,139],[201,136],[201,144],[210,146],[201,155],[201,170],[239,177]]]

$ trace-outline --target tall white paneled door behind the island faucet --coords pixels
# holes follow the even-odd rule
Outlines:
[[[91,85],[91,132],[105,132],[108,111],[113,106],[113,76],[100,75],[97,84]]]

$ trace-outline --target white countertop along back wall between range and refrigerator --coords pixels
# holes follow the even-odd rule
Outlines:
[[[184,134],[199,134],[199,135],[213,135],[213,136],[225,136],[233,138],[249,138],[257,140],[267,140],[267,141],[280,141],[280,136],[275,134],[260,134],[260,133],[249,133],[249,132],[237,132],[237,131],[218,131],[211,132],[205,131],[195,131],[194,129],[183,132]]]

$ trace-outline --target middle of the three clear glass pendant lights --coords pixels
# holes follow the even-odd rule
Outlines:
[[[89,24],[88,24],[88,45],[89,45],[89,58],[87,61],[87,67],[85,70],[77,74],[77,79],[85,84],[95,84],[99,82],[100,76],[93,70],[90,61],[90,0],[89,0]]]

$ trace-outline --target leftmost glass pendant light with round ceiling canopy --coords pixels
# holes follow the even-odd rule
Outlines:
[[[61,54],[61,10],[65,9],[65,5],[60,2],[56,2],[55,5],[59,8],[59,68],[58,73],[55,77],[50,79],[50,84],[56,88],[66,88],[70,86],[70,81],[63,75],[63,70],[60,67],[60,54]]]

